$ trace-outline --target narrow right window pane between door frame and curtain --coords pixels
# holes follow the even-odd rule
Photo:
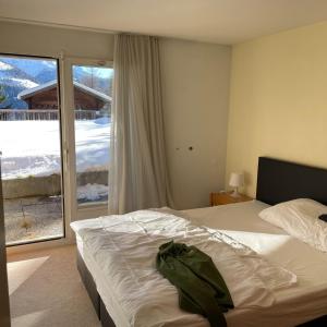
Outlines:
[[[73,65],[77,203],[108,201],[113,69]]]

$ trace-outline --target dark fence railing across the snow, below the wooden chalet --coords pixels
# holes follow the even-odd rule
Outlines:
[[[99,116],[97,110],[75,110],[75,120],[92,120]],[[59,110],[52,109],[0,109],[0,121],[11,120],[58,120]]]

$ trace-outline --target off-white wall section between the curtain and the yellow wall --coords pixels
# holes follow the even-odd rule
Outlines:
[[[230,48],[177,39],[160,46],[173,199],[179,209],[207,206],[225,185]]]

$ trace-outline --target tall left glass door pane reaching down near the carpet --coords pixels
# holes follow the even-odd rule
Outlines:
[[[7,245],[64,237],[58,60],[0,56]]]

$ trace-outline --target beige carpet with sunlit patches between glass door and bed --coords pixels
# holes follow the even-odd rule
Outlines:
[[[12,327],[99,327],[76,269],[75,246],[8,257]]]

